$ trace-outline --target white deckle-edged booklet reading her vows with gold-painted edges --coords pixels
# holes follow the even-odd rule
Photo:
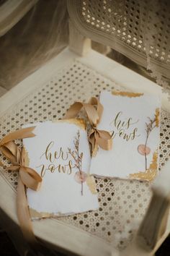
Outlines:
[[[35,126],[35,137],[23,140],[25,166],[42,176],[40,190],[27,189],[32,218],[97,210],[84,121],[46,121],[29,126]]]

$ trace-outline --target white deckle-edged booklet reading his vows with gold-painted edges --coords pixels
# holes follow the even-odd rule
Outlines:
[[[112,150],[99,148],[91,174],[151,181],[158,173],[161,98],[143,93],[103,91],[97,129],[112,135]]]

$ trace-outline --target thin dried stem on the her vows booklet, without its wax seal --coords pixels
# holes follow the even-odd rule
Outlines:
[[[75,161],[76,168],[79,169],[80,175],[82,175],[82,158],[83,158],[83,153],[79,155],[79,142],[80,142],[80,132],[78,130],[77,132],[77,137],[75,137],[75,140],[73,142],[75,146],[75,150],[71,151],[70,148],[68,148],[68,153],[71,154],[73,160]],[[83,195],[83,182],[81,182],[81,195]]]

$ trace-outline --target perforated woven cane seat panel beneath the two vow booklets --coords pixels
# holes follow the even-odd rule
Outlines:
[[[88,101],[101,90],[125,90],[79,61],[73,61],[55,77],[24,98],[4,114],[0,121],[0,136],[19,129],[22,124],[62,118],[74,101]],[[160,168],[170,155],[170,114],[161,113]],[[3,160],[0,154],[1,160]],[[5,158],[4,160],[5,161]],[[17,173],[2,171],[1,175],[17,188]],[[61,221],[91,234],[114,241],[123,248],[133,238],[151,198],[149,184],[133,180],[96,179],[100,207],[97,211],[66,216]]]

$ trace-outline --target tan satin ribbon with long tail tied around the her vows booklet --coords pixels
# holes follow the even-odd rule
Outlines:
[[[19,179],[17,186],[17,216],[19,224],[22,229],[22,233],[27,242],[36,247],[37,239],[32,231],[32,222],[30,218],[30,211],[27,205],[27,196],[25,188],[37,190],[40,188],[42,178],[35,170],[24,166],[24,148],[19,150],[17,145],[12,140],[24,139],[28,137],[35,137],[32,132],[35,127],[28,127],[24,129],[19,129],[16,132],[9,133],[0,142],[1,152],[6,156],[6,158],[11,161],[12,166],[8,167],[11,171],[19,171]],[[0,162],[1,166],[4,166]],[[38,247],[38,246],[37,246]]]

